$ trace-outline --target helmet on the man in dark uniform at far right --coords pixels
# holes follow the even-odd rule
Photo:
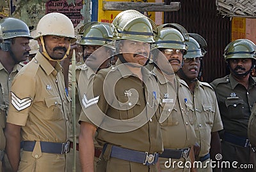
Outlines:
[[[237,39],[227,45],[224,50],[224,59],[241,59],[250,58],[256,59],[256,46],[248,39]]]

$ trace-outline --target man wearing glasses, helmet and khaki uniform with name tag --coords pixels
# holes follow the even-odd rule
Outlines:
[[[166,27],[169,25],[171,27]],[[194,157],[193,145],[196,135],[193,128],[191,95],[183,80],[175,76],[170,78],[173,72],[177,73],[181,68],[183,55],[187,51],[186,41],[188,32],[181,25],[159,26],[159,36],[155,43],[159,52],[154,51],[153,59],[156,65],[153,72],[160,89],[160,123],[164,145],[164,152],[159,159],[161,171],[190,171],[185,163],[193,162]],[[159,58],[162,53],[173,71],[163,67],[163,59]],[[178,162],[182,165],[178,166]]]

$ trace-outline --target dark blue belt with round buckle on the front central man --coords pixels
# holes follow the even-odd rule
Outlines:
[[[106,147],[104,146],[103,152],[105,152]],[[147,166],[154,165],[158,161],[158,153],[148,154],[148,152],[140,152],[137,150],[131,150],[121,147],[111,147],[111,157],[117,159],[123,159],[125,161],[138,162]]]

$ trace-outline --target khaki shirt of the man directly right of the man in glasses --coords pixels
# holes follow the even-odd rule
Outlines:
[[[193,115],[196,142],[200,145],[200,157],[207,155],[211,148],[211,133],[223,129],[215,92],[209,83],[196,82],[193,103]]]

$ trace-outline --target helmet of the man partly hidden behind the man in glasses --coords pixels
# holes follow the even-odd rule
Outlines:
[[[189,41],[187,54],[184,58],[204,57],[206,53],[207,43],[202,36],[196,33],[189,33]]]

